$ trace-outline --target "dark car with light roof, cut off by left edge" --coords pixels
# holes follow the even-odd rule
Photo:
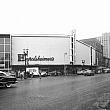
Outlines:
[[[11,87],[12,84],[16,84],[17,82],[15,77],[0,71],[0,86]]]

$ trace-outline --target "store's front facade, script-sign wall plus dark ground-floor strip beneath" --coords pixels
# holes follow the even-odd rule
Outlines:
[[[12,68],[14,70],[38,67],[40,69],[64,70],[73,55],[71,37],[67,35],[12,35]],[[28,50],[26,62],[23,51]],[[25,64],[26,63],[26,64]]]

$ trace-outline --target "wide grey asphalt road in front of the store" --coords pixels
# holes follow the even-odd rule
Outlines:
[[[93,110],[104,93],[110,93],[110,74],[19,80],[0,88],[0,110]]]

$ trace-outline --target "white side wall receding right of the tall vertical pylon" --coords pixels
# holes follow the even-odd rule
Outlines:
[[[75,65],[82,65],[82,60],[85,61],[84,65],[95,64],[95,50],[92,49],[92,64],[91,64],[91,47],[81,41],[76,41],[76,63]]]

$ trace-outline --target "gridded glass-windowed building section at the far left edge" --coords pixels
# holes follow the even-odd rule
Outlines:
[[[10,70],[11,38],[9,34],[0,34],[0,70]]]

